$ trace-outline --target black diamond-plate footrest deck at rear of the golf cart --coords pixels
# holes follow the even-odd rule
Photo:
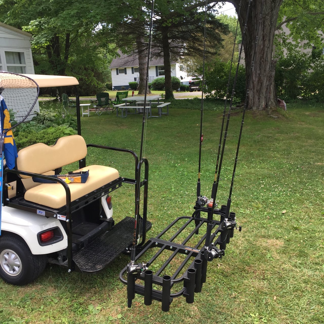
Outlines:
[[[146,222],[146,231],[152,227]],[[96,238],[80,252],[73,255],[75,264],[82,272],[98,272],[107,267],[133,242],[134,218],[125,217],[110,231]],[[142,228],[141,228],[142,233]]]

